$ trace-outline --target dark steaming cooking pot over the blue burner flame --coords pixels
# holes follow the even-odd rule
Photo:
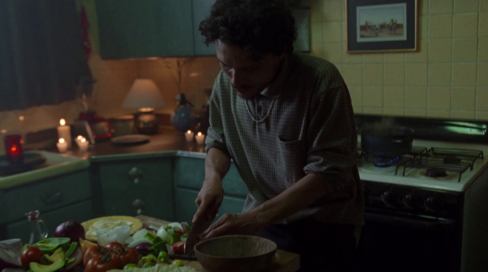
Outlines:
[[[361,147],[373,157],[395,158],[412,149],[413,129],[407,127],[365,128],[361,132]]]

